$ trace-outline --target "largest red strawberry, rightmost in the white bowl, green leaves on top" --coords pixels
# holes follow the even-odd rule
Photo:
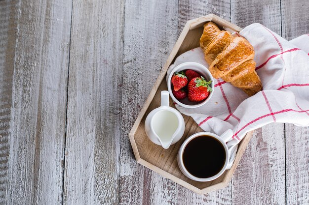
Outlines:
[[[211,82],[207,82],[203,76],[193,78],[188,85],[188,99],[192,102],[200,102],[206,99],[209,93],[212,92]]]

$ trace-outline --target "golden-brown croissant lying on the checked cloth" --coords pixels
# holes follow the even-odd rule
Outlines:
[[[255,71],[254,49],[245,38],[233,37],[229,31],[208,22],[199,43],[214,78],[230,82],[249,96],[262,89]]]

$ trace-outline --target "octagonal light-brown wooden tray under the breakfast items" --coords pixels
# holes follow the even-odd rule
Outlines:
[[[247,133],[245,138],[240,142],[236,159],[231,170],[227,170],[222,176],[213,181],[197,182],[184,176],[177,164],[177,153],[182,143],[192,134],[203,131],[195,123],[193,118],[183,115],[186,123],[185,134],[178,143],[170,146],[168,149],[163,149],[161,146],[155,145],[148,139],[144,130],[144,123],[147,115],[153,109],[160,106],[161,90],[167,90],[165,81],[167,68],[179,55],[199,46],[199,38],[203,32],[203,25],[209,21],[216,23],[219,27],[221,27],[221,29],[224,27],[225,29],[230,28],[238,32],[241,30],[241,28],[236,25],[214,14],[209,14],[207,16],[202,16],[200,18],[188,21],[129,133],[130,142],[138,163],[198,194],[206,194],[208,192],[223,188],[229,184],[241,156],[243,155],[244,150],[252,137],[253,131]],[[171,98],[170,106],[174,107]]]

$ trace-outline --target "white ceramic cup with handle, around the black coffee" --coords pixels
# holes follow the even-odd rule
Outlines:
[[[225,164],[223,168],[220,170],[218,174],[216,174],[215,176],[207,177],[207,178],[199,178],[199,177],[196,177],[190,174],[188,170],[186,169],[184,162],[183,162],[183,153],[184,153],[186,146],[191,140],[193,140],[196,137],[205,136],[205,135],[216,138],[222,144],[222,146],[225,149],[226,159],[225,159]],[[221,136],[218,136],[211,132],[199,132],[199,133],[196,133],[190,136],[187,140],[185,140],[185,142],[182,144],[182,146],[179,148],[179,151],[178,151],[177,162],[178,162],[178,166],[181,172],[188,178],[193,179],[195,181],[211,181],[221,176],[224,173],[224,171],[226,171],[227,168],[232,167],[233,162],[230,162],[229,159],[230,159],[233,148],[238,144],[238,141],[232,139],[232,135],[233,135],[232,130],[228,129]]]

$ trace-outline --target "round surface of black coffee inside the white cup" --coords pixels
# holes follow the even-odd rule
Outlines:
[[[226,160],[224,146],[211,136],[199,136],[191,140],[184,149],[183,162],[190,174],[208,178],[218,174]]]

